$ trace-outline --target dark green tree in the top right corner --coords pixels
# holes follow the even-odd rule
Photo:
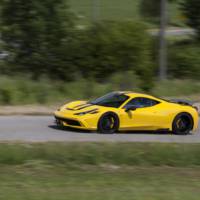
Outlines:
[[[196,30],[197,37],[200,40],[200,1],[184,0],[181,2],[181,8],[186,17],[186,23]]]

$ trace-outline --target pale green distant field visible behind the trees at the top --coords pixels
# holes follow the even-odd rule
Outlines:
[[[94,0],[69,0],[71,10],[78,16],[81,24],[93,21]],[[98,0],[97,0],[98,2]],[[139,6],[141,0],[99,0],[97,9],[99,20],[141,20]],[[183,26],[183,19],[178,3],[169,7],[170,23],[175,26]],[[155,26],[151,24],[151,26]]]

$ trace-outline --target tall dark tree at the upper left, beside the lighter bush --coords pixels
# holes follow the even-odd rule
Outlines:
[[[34,78],[66,78],[60,52],[73,28],[66,0],[2,0],[1,8],[2,40],[12,70],[31,72]]]

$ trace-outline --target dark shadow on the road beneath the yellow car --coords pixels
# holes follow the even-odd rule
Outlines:
[[[88,130],[81,130],[81,129],[75,129],[75,128],[71,128],[71,127],[60,127],[57,125],[49,125],[48,126],[51,129],[55,129],[58,131],[69,131],[69,132],[74,132],[74,133],[81,133],[81,134],[100,134],[97,133],[96,131],[88,131]],[[126,135],[172,135],[172,132],[169,131],[119,131],[115,134],[126,134]],[[104,134],[107,135],[107,134]],[[113,134],[109,134],[109,135],[113,135]]]

